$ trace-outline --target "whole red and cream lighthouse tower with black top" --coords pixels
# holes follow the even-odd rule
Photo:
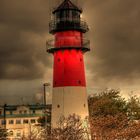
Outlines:
[[[49,32],[53,41],[47,42],[47,52],[54,56],[52,127],[61,116],[88,116],[86,80],[83,55],[89,51],[88,31],[81,19],[82,9],[64,0],[52,11]]]

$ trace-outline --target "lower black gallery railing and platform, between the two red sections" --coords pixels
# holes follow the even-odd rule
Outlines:
[[[81,50],[83,53],[90,51],[90,40],[83,39],[80,46],[55,46],[54,40],[48,40],[46,42],[46,51],[48,53],[54,53],[58,50],[66,50],[66,49],[76,49]]]

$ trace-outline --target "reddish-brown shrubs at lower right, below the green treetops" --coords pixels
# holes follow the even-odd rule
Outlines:
[[[132,140],[140,137],[140,122],[132,122],[123,114],[98,116],[92,118],[90,124],[93,140]]]

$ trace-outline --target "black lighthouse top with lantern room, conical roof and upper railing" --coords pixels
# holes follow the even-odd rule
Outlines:
[[[64,30],[77,30],[87,32],[88,26],[81,20],[82,9],[74,5],[70,0],[65,0],[52,12],[53,19],[49,24],[50,33],[54,34]]]

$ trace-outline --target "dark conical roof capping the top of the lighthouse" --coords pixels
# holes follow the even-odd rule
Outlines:
[[[70,0],[64,0],[60,6],[58,6],[53,13],[61,10],[76,10],[79,12],[82,12],[82,9],[77,7],[75,4],[73,4]]]

